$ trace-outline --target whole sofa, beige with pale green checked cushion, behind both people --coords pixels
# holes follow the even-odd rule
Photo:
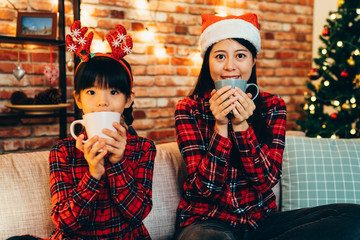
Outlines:
[[[153,208],[144,220],[152,239],[170,239],[186,168],[175,142],[158,144]],[[47,237],[50,219],[49,151],[0,155],[0,239]],[[274,188],[280,211],[335,202],[360,203],[360,139],[288,134],[283,175]]]

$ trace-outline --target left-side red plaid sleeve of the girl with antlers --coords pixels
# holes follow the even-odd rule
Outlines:
[[[69,154],[65,145],[57,144],[50,152],[51,217],[57,228],[73,232],[86,221],[105,181],[93,178],[87,171],[75,184],[71,177]],[[75,155],[81,157],[80,151],[76,150]]]

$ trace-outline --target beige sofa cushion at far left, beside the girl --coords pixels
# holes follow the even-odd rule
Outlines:
[[[0,239],[54,229],[48,158],[49,151],[0,155]]]

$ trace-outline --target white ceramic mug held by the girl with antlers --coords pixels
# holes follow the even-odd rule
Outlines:
[[[83,116],[83,119],[75,120],[70,125],[70,133],[73,138],[77,139],[75,135],[74,128],[76,124],[81,124],[85,126],[86,134],[88,138],[92,138],[95,135],[98,135],[100,138],[109,138],[108,135],[102,133],[104,128],[110,129],[112,131],[117,131],[113,127],[113,122],[120,123],[121,114],[117,112],[92,112],[87,113]]]

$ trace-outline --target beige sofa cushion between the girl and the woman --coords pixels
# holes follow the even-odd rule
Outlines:
[[[187,176],[186,166],[176,142],[160,144],[156,148],[153,208],[144,224],[152,239],[171,239],[175,232],[180,191]]]

